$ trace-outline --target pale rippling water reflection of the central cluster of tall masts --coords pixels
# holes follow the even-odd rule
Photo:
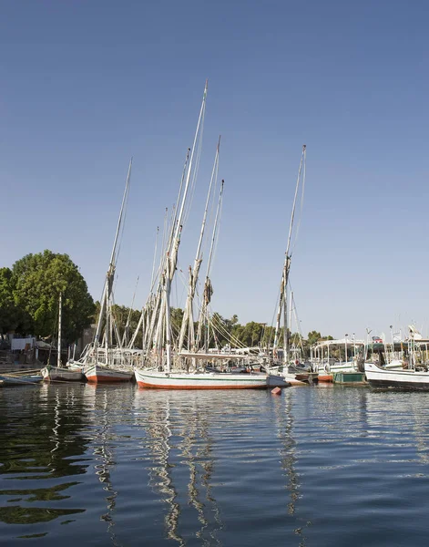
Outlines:
[[[214,460],[208,416],[199,408],[198,397],[190,397],[186,408],[174,407],[172,397],[171,393],[147,397],[141,391],[136,397],[137,414],[138,405],[143,404],[144,414],[150,417],[145,426],[145,446],[152,462],[149,485],[167,504],[164,525],[169,540],[186,545],[185,534],[179,532],[181,518],[185,532],[199,522],[192,535],[202,544],[221,545],[217,533],[223,526],[210,486]]]

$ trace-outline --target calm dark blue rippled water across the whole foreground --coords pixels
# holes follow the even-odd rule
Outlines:
[[[0,389],[5,545],[424,545],[429,394]]]

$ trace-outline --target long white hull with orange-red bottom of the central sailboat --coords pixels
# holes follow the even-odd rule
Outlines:
[[[139,387],[158,389],[264,389],[289,387],[282,377],[252,373],[181,373],[135,370]]]

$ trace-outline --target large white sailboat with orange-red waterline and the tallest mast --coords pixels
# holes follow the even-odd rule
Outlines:
[[[180,202],[180,207],[177,216],[173,218],[169,244],[162,265],[162,275],[158,286],[157,302],[154,306],[156,313],[153,313],[148,329],[148,338],[152,340],[152,342],[146,355],[143,357],[142,366],[135,370],[136,380],[139,387],[156,387],[163,389],[254,389],[288,387],[289,384],[287,384],[283,378],[273,377],[260,372],[253,373],[250,371],[249,373],[242,374],[230,372],[230,370],[225,371],[224,367],[212,367],[208,369],[207,365],[209,361],[213,362],[214,360],[220,359],[229,361],[231,356],[225,354],[213,356],[213,354],[209,354],[207,351],[199,351],[200,348],[196,346],[192,305],[199,277],[199,268],[202,262],[201,244],[206,226],[212,185],[213,181],[216,181],[218,174],[219,142],[215,157],[215,165],[209,184],[209,193],[199,234],[199,244],[194,266],[193,268],[189,267],[188,297],[180,328],[179,344],[175,351],[172,347],[170,287],[176,272],[180,235],[184,222],[183,212],[187,204],[191,175],[193,180],[195,180],[195,174],[192,173],[192,165],[196,150],[199,150],[200,139],[202,137],[202,123],[206,107],[206,98],[207,82],[204,88],[204,95],[199,111],[199,121],[189,156],[189,163],[188,161],[186,163],[186,177],[184,178],[184,181],[182,179],[182,182],[184,182],[183,191],[182,185],[180,185],[178,201]],[[198,160],[196,163],[198,164]],[[216,230],[217,222],[219,222],[222,193],[223,181],[220,189],[214,230]],[[187,334],[188,347],[185,348],[184,341]],[[236,356],[232,357],[236,358]]]

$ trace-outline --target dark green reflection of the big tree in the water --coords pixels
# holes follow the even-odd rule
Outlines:
[[[7,524],[36,524],[85,511],[57,507],[79,484],[57,479],[87,468],[78,460],[87,448],[79,436],[81,405],[73,389],[61,389],[61,395],[58,389],[0,390],[0,521]]]

